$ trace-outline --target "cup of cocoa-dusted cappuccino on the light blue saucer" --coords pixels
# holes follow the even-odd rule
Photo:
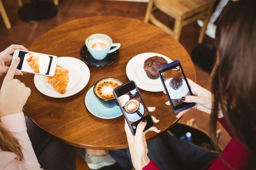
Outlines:
[[[94,85],[94,95],[102,106],[112,108],[116,106],[117,103],[113,90],[122,84],[123,83],[119,79],[112,77],[100,79]]]

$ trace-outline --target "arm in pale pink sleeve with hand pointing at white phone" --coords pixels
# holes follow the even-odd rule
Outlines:
[[[31,90],[21,83],[20,80],[13,79],[19,62],[19,57],[13,60],[4,77],[0,89],[0,117],[3,126],[18,139],[22,146],[26,168],[28,170],[40,170],[40,165],[27,134],[25,117],[22,113],[22,108],[27,102]]]

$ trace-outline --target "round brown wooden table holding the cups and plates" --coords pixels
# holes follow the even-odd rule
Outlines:
[[[186,76],[194,81],[195,69],[184,47],[170,35],[152,24],[119,16],[95,16],[61,24],[40,36],[29,46],[29,51],[81,59],[80,51],[85,39],[93,33],[105,33],[113,42],[121,43],[118,59],[107,66],[88,65],[88,84],[70,97],[43,95],[34,84],[34,74],[18,76],[18,79],[31,88],[31,96],[24,111],[40,128],[72,146],[100,150],[127,148],[124,116],[102,119],[92,115],[85,105],[88,90],[104,77],[115,77],[123,83],[128,82],[126,65],[140,53],[159,53],[173,61],[180,60]],[[140,92],[147,106],[156,106],[151,114],[160,119],[155,126],[162,130],[161,133],[177,122],[171,106],[165,104],[168,98],[163,92]],[[160,134],[148,132],[146,138],[150,140]]]

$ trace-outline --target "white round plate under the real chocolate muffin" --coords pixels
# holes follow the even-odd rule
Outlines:
[[[126,75],[129,80],[135,81],[137,86],[145,91],[159,92],[164,91],[164,86],[160,80],[148,78],[144,70],[144,62],[153,56],[163,57],[168,63],[173,62],[169,57],[158,53],[141,53],[130,59],[126,65]]]

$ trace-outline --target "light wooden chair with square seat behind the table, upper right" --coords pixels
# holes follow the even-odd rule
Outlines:
[[[198,43],[201,44],[215,2],[216,0],[150,0],[144,22],[150,20],[155,26],[179,41],[183,26],[204,18],[204,25],[201,28],[198,38]],[[156,10],[162,11],[169,17],[175,19],[173,29],[155,17],[154,13]]]

